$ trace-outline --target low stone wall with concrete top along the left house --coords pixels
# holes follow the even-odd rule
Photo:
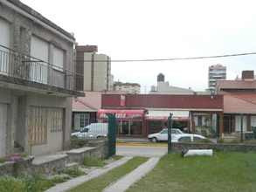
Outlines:
[[[108,141],[88,142],[87,147],[72,149],[57,154],[48,154],[38,157],[25,157],[22,161],[6,161],[0,163],[0,176],[20,176],[24,174],[41,173],[45,175],[59,174],[68,164],[83,164],[85,156],[96,159],[107,158]]]

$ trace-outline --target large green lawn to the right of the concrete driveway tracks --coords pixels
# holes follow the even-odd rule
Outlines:
[[[213,156],[164,155],[133,191],[256,191],[256,154],[215,152]]]

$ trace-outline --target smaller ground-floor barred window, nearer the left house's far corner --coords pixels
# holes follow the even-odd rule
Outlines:
[[[51,115],[51,131],[61,131],[63,121],[62,108],[52,108]]]

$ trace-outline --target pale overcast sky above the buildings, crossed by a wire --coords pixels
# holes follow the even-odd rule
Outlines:
[[[256,52],[251,0],[21,0],[68,32],[79,45],[97,45],[112,62],[115,81],[139,83],[142,93],[162,72],[170,86],[204,91],[208,67],[225,65],[227,79],[256,74],[256,55],[148,62]]]

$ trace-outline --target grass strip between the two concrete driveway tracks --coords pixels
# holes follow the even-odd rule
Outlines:
[[[100,175],[99,177],[93,178],[88,182],[84,182],[80,186],[69,190],[70,192],[83,192],[83,191],[102,191],[102,189],[107,188],[112,182],[115,182],[123,175],[127,175],[132,170],[140,166],[143,162],[148,161],[148,157],[134,157],[128,160],[123,165],[118,168],[114,168],[108,171],[104,175]]]

